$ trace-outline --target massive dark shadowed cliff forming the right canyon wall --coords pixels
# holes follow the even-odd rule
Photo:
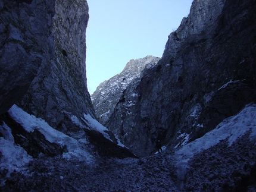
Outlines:
[[[255,1],[193,1],[163,58],[127,87],[106,126],[139,156],[179,147],[255,102]],[[133,96],[132,96],[133,94]]]

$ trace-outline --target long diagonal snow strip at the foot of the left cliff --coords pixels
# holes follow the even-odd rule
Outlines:
[[[63,153],[64,158],[76,156],[80,160],[86,160],[87,162],[92,161],[92,156],[82,149],[82,145],[79,141],[55,130],[43,119],[27,114],[27,112],[23,111],[17,105],[13,105],[11,109],[9,109],[8,113],[24,128],[24,130],[28,132],[38,130],[49,142],[60,144],[62,147],[67,146],[68,152]],[[85,143],[85,141],[83,143]]]

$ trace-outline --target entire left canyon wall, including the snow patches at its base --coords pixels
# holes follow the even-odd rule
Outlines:
[[[29,160],[132,155],[95,120],[86,85],[87,2],[1,1],[0,8],[1,162],[8,147]]]

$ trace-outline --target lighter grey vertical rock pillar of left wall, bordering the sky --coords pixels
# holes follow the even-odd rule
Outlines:
[[[38,75],[20,100],[30,114],[45,119],[51,127],[73,137],[83,137],[81,128],[71,122],[71,114],[94,117],[86,86],[85,31],[88,24],[86,1],[55,1],[55,58],[39,68]]]

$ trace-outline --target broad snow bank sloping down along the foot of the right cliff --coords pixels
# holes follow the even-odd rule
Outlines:
[[[256,136],[256,104],[246,105],[237,115],[224,119],[217,127],[203,137],[186,144],[176,152],[177,160],[186,162],[195,153],[216,145],[220,140],[228,139],[229,145],[251,130],[250,136]]]

